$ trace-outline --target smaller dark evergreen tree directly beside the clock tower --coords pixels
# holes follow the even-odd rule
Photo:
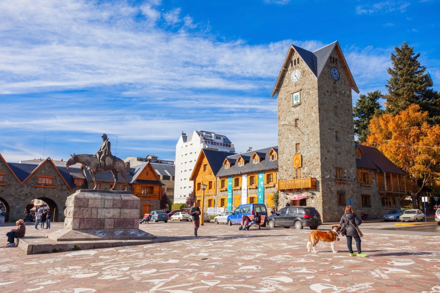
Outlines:
[[[380,108],[379,98],[383,98],[380,91],[376,90],[367,95],[359,95],[356,105],[353,107],[354,134],[358,136],[357,141],[363,143],[367,140],[367,134],[370,133],[368,125],[374,115],[381,115],[383,110]]]

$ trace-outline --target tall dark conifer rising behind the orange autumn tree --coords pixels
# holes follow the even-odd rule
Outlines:
[[[426,67],[418,62],[420,53],[415,54],[414,47],[405,42],[394,49],[396,54],[391,53],[393,68],[387,69],[390,79],[385,85],[388,88],[386,112],[396,115],[409,105],[417,104],[428,112],[431,121],[438,120],[439,94],[430,88],[432,84]]]

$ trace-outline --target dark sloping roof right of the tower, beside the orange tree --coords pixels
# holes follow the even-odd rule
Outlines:
[[[355,144],[357,149],[359,145]],[[376,169],[379,172],[390,172],[395,174],[405,174],[399,167],[391,162],[383,153],[374,146],[360,145],[363,153],[361,159],[356,158],[356,166],[363,168]]]

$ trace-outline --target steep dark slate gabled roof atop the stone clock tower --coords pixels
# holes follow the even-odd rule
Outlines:
[[[270,97],[272,98],[273,96],[275,96],[276,93],[278,93],[278,90],[280,89],[280,83],[282,81],[283,74],[287,70],[290,57],[293,55],[293,53],[295,51],[298,53],[298,55],[303,60],[303,62],[307,64],[308,68],[313,73],[313,75],[316,78],[318,78],[321,75],[327,61],[329,60],[330,54],[331,54],[331,52],[333,52],[333,50],[336,50],[336,52],[339,56],[339,60],[341,60],[342,67],[344,68],[344,71],[347,74],[347,76],[351,82],[350,85],[351,85],[352,89],[356,93],[359,93],[359,89],[357,88],[357,85],[354,82],[352,72],[350,71],[350,68],[347,65],[347,61],[345,60],[345,57],[342,54],[342,50],[341,50],[341,47],[339,46],[339,42],[335,41],[335,42],[332,42],[331,44],[324,46],[314,52],[310,52],[306,49],[303,49],[301,47],[298,47],[298,46],[291,44],[289,47],[289,50],[287,52],[286,59],[283,64],[283,68],[281,68],[281,70],[280,70],[280,74],[278,75],[277,82],[275,83],[275,87],[274,87],[274,89],[272,91],[272,95]]]

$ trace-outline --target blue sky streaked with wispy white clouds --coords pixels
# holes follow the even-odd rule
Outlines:
[[[270,93],[290,43],[339,41],[361,93],[409,42],[439,89],[438,0],[0,0],[0,153],[174,159],[181,131],[277,144]],[[353,103],[357,94],[353,92]],[[46,143],[44,148],[44,136]]]

